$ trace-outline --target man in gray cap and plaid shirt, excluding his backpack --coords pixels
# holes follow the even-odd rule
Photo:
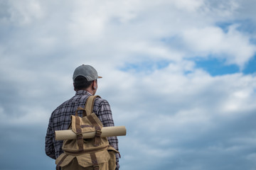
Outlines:
[[[48,130],[46,134],[46,154],[48,157],[57,159],[63,153],[63,141],[56,141],[55,130],[67,130],[70,125],[70,115],[75,115],[78,107],[85,107],[85,101],[89,96],[95,95],[97,91],[97,71],[90,65],[82,64],[75,69],[73,74],[73,85],[75,96],[62,103],[50,115]],[[93,113],[97,115],[104,127],[114,126],[110,104],[102,98],[95,98]],[[80,113],[82,116],[82,113]],[[117,137],[108,137],[110,145],[118,150]],[[117,169],[119,169],[119,157],[117,157]]]

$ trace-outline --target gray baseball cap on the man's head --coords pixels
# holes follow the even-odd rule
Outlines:
[[[97,71],[95,68],[93,68],[90,65],[80,65],[78,68],[75,69],[75,72],[73,74],[73,81],[75,82],[75,78],[78,76],[85,77],[87,81],[93,81],[95,79],[99,79],[102,77],[99,77],[97,75]]]

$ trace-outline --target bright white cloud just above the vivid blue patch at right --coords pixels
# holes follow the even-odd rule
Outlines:
[[[249,36],[243,35],[235,28],[236,26],[230,26],[228,33],[217,27],[192,28],[183,33],[183,39],[198,55],[225,58],[226,64],[237,64],[243,68],[255,54],[256,46],[250,44]]]

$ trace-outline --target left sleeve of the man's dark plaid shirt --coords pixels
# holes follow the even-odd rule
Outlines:
[[[54,149],[54,145],[53,145],[53,128],[52,128],[52,121],[50,118],[49,121],[49,125],[47,128],[47,132],[46,132],[46,155],[48,155],[48,157],[52,158],[52,159],[56,159],[55,158],[55,149]]]

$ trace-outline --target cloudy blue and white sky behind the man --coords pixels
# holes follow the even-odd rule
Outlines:
[[[73,72],[103,79],[120,169],[256,169],[256,1],[0,0],[0,164],[54,169]]]

